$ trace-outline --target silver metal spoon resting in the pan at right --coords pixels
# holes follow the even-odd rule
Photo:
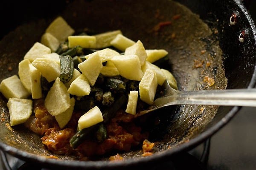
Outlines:
[[[169,105],[221,105],[256,107],[256,89],[225,89],[179,91],[172,88],[167,81],[163,96],[157,98],[149,110],[140,111],[137,116],[155,111]]]

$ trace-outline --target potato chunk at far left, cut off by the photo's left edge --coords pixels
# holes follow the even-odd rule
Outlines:
[[[19,77],[13,75],[6,79],[3,79],[0,83],[0,92],[5,96],[6,99],[9,98],[21,98],[26,99],[29,97],[29,92],[22,85]]]

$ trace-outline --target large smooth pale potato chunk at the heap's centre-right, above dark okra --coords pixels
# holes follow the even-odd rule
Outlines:
[[[111,61],[122,77],[137,81],[142,79],[143,72],[140,67],[140,59],[137,55],[119,55],[112,57]]]

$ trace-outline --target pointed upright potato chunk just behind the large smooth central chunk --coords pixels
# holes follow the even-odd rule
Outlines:
[[[125,55],[137,55],[140,59],[140,65],[143,66],[147,56],[143,43],[138,40],[134,45],[125,49]]]

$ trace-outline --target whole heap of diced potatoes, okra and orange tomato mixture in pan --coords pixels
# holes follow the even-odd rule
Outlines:
[[[10,125],[24,124],[56,155],[85,158],[140,147],[150,156],[154,143],[138,113],[161,95],[163,82],[177,89],[161,67],[167,54],[145,49],[121,30],[75,32],[57,17],[19,62],[18,74],[0,83]]]

